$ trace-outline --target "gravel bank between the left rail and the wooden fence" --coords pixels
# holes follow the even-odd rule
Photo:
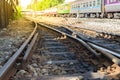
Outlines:
[[[33,23],[24,18],[12,21],[0,30],[0,68],[14,54],[33,31]]]

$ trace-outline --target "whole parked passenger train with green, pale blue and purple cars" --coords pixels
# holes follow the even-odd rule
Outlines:
[[[78,18],[120,18],[120,0],[77,0],[42,11],[42,15]]]

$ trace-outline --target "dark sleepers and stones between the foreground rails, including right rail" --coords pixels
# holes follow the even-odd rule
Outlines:
[[[102,54],[82,39],[45,24],[38,25],[39,41],[16,80],[120,79],[119,59]],[[89,43],[90,44],[90,43]],[[107,56],[118,61],[112,62]]]

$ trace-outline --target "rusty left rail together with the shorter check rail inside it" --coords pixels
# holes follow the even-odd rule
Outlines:
[[[9,80],[10,77],[12,77],[16,73],[18,67],[22,65],[23,57],[24,60],[26,60],[27,56],[29,56],[27,52],[29,53],[31,52],[31,49],[33,48],[33,45],[35,44],[35,41],[38,36],[38,34],[36,34],[36,30],[37,25],[35,26],[29,38],[22,44],[18,51],[0,69],[0,80]],[[28,47],[29,43],[30,45]],[[25,54],[24,51],[26,51]]]

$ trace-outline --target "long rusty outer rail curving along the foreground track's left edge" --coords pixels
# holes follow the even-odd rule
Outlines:
[[[22,44],[18,51],[0,69],[0,80],[9,80],[9,78],[15,74],[15,72],[17,71],[17,67],[20,66],[20,64],[17,63],[17,61],[19,60],[21,53],[25,50],[25,48],[35,35],[36,29],[37,25],[35,25],[35,28],[31,35],[29,36],[29,38]]]

